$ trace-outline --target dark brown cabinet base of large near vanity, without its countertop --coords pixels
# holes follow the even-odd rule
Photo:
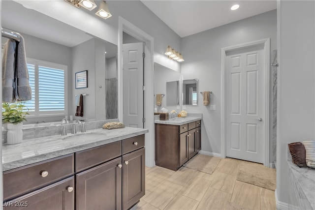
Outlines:
[[[144,142],[139,135],[3,172],[3,208],[130,209],[145,194]]]

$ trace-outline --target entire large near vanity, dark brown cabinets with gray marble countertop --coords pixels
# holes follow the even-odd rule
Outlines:
[[[95,129],[3,145],[3,209],[130,209],[145,194],[148,129]]]

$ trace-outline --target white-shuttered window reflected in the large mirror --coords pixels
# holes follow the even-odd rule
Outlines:
[[[32,100],[25,105],[30,117],[65,115],[67,66],[34,59],[27,62]]]

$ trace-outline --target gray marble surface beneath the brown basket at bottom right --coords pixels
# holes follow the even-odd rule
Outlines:
[[[297,165],[288,161],[289,170],[299,184],[310,205],[315,209],[315,169],[299,168]]]

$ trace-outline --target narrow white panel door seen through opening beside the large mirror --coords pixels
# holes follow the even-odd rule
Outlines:
[[[123,44],[123,122],[143,128],[143,44]]]

